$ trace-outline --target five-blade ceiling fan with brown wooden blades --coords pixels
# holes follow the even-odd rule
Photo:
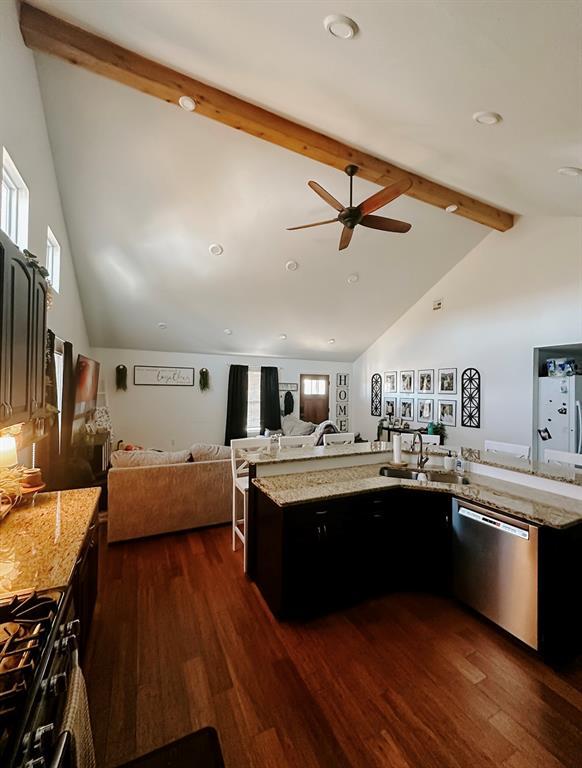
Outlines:
[[[335,221],[339,221],[343,224],[342,233],[339,242],[339,250],[343,251],[347,248],[354,234],[354,228],[358,224],[362,224],[364,227],[370,227],[371,229],[381,229],[384,232],[408,232],[412,227],[412,224],[408,224],[406,221],[398,221],[398,219],[388,219],[385,216],[371,216],[370,214],[377,211],[378,208],[383,208],[392,200],[396,200],[397,197],[404,194],[412,186],[410,179],[402,179],[396,181],[389,187],[384,187],[379,192],[376,192],[371,197],[368,197],[359,205],[353,204],[352,193],[354,176],[358,172],[357,165],[348,165],[345,169],[347,175],[350,177],[350,204],[343,206],[338,200],[335,199],[329,192],[324,189],[316,181],[308,181],[307,186],[319,195],[328,205],[331,205],[338,215],[335,219],[327,219],[326,221],[316,221],[314,224],[302,224],[300,227],[287,227],[287,229],[307,229],[308,227],[319,227],[322,224],[332,224]]]

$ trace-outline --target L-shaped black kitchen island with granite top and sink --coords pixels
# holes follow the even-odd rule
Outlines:
[[[430,480],[412,479],[412,464],[388,467],[389,475],[404,476],[383,476],[379,462],[321,471],[313,462],[312,471],[260,477],[251,472],[249,575],[273,613],[314,615],[395,590],[452,595],[453,514],[467,508],[469,517],[483,513],[491,526],[512,529],[513,523],[523,538],[531,530],[531,548],[522,553],[531,574],[525,586],[504,584],[505,574],[500,579],[492,572],[485,591],[513,589],[517,614],[519,590],[534,593],[538,628],[529,644],[548,659],[580,652],[582,622],[574,605],[582,583],[582,502],[524,482],[440,474],[439,460],[431,461]],[[505,516],[501,522],[494,512]]]

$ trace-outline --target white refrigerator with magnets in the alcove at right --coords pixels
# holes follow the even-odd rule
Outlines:
[[[538,457],[544,450],[582,453],[582,376],[540,377]]]

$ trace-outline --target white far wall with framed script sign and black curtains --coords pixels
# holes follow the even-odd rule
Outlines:
[[[273,365],[279,367],[280,382],[299,384],[300,373],[330,375],[330,418],[335,421],[336,373],[351,373],[351,363],[317,362],[246,356],[151,352],[96,348],[92,356],[101,363],[100,377],[105,383],[115,440],[145,447],[187,448],[194,442],[222,444],[226,423],[229,365]],[[127,391],[115,388],[115,368],[127,367]],[[193,367],[194,387],[134,386],[134,365]],[[208,368],[210,389],[200,391],[200,368]],[[294,393],[296,413],[299,393]]]

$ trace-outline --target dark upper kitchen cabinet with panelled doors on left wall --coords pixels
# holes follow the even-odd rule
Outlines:
[[[29,421],[44,403],[47,285],[0,233],[0,426]]]

